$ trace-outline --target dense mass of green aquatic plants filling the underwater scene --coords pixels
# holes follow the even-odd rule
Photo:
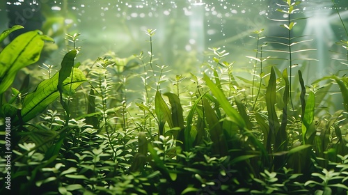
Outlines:
[[[45,65],[35,90],[32,75],[10,88],[52,41],[40,31],[17,37],[0,53],[1,149],[12,151],[10,190],[0,157],[1,194],[347,194],[348,77],[306,84],[294,72],[292,54],[310,50],[296,49],[310,40],[292,36],[298,4],[285,0],[278,10],[291,16],[281,21],[289,36],[272,42],[283,50],[267,49],[263,30],[253,33],[252,80],[238,77],[220,48],[210,48],[202,75],[168,77],[149,29],[145,54],[81,63],[79,34],[67,35],[71,48],[56,73]],[[348,60],[348,42],[338,45]],[[269,63],[284,53],[288,68]],[[132,101],[130,77],[143,81]]]

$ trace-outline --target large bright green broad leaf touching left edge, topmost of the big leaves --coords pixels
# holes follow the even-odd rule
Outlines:
[[[35,63],[45,44],[40,31],[29,31],[18,36],[0,53],[0,94],[13,83],[18,70]]]

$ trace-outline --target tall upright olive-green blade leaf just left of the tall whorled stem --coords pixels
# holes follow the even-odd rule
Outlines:
[[[268,122],[269,122],[269,143],[274,143],[276,134],[279,130],[279,121],[276,114],[276,73],[274,68],[271,68],[271,76],[269,77],[269,83],[266,90],[266,104],[268,112]],[[269,148],[269,146],[267,146]]]

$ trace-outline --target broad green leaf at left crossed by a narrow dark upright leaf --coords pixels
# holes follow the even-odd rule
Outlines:
[[[59,97],[59,91],[57,88],[58,75],[59,72],[57,72],[52,78],[40,82],[35,91],[26,95],[21,112],[22,120],[24,122],[31,120],[40,114],[49,104],[54,102],[54,100]],[[63,89],[68,91],[70,90],[71,86],[71,88],[74,90],[84,81],[86,81],[86,77],[81,70],[74,68],[72,81],[70,78],[65,79],[65,81],[63,81]]]

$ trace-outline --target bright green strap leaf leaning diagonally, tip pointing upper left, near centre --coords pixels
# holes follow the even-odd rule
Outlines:
[[[216,100],[218,100],[218,102],[220,103],[221,108],[226,112],[227,116],[230,117],[230,120],[236,125],[238,125],[239,128],[244,129],[246,127],[245,121],[243,120],[242,116],[238,113],[238,111],[232,107],[230,102],[228,102],[228,100],[226,99],[226,96],[223,94],[221,89],[219,89],[209,79],[207,75],[204,75],[203,79],[205,80],[205,83],[207,84],[207,86],[209,86]]]

